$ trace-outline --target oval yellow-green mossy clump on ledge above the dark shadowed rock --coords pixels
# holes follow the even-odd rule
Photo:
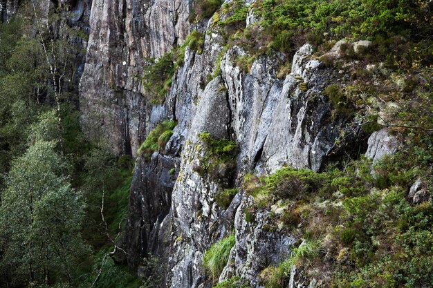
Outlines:
[[[176,121],[166,120],[156,125],[154,130],[150,131],[149,135],[137,151],[145,159],[149,159],[154,151],[159,148],[165,148],[170,137],[173,135],[173,129],[176,127]]]

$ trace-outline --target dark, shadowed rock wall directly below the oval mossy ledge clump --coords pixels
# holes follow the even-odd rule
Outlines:
[[[133,173],[129,198],[129,217],[122,245],[129,254],[131,266],[147,253],[163,257],[165,248],[158,233],[172,204],[172,189],[176,181],[176,159],[154,153],[151,160],[138,158]]]

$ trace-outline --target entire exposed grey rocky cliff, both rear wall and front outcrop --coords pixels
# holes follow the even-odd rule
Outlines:
[[[287,258],[297,239],[284,229],[269,229],[275,224],[271,211],[247,219],[253,200],[243,189],[243,178],[283,166],[321,171],[338,160],[341,147],[335,139],[345,129],[353,130],[357,120],[332,117],[332,104],[322,92],[330,84],[344,84],[347,77],[314,59],[309,44],[296,52],[291,71],[282,78],[277,70],[286,61],[284,55],[262,55],[247,72],[235,61],[247,52],[237,46],[224,50],[212,20],[187,21],[193,7],[189,0],[93,1],[80,82],[82,123],[94,139],[108,136],[117,153],[136,155],[156,124],[178,122],[165,147],[136,160],[122,240],[131,266],[152,253],[167,271],[161,287],[212,287],[203,255],[234,232],[236,244],[219,280],[239,276],[262,287],[259,273]],[[162,57],[183,44],[193,29],[205,35],[203,49],[185,49],[165,101],[152,104],[140,79],[145,58]],[[221,73],[209,81],[218,69]],[[203,132],[236,143],[234,169],[220,164],[216,177],[201,173],[208,153]],[[363,153],[367,140],[356,133],[345,141]],[[386,132],[369,141],[375,161],[395,151],[394,140],[384,137]],[[228,188],[239,191],[228,207],[221,207],[216,195]],[[314,287],[310,280],[292,269],[290,287]]]

